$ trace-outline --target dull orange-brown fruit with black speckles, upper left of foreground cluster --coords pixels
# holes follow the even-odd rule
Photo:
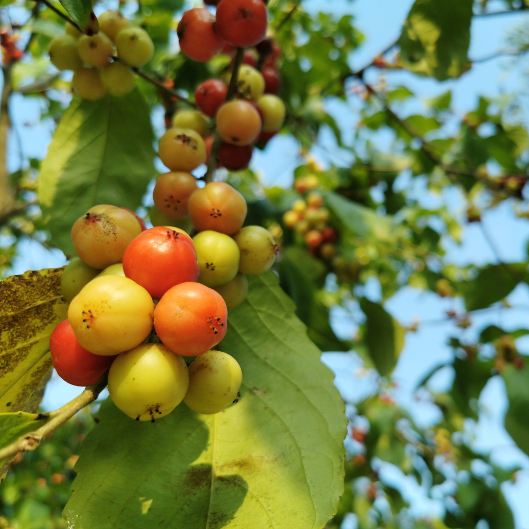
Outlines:
[[[140,233],[140,223],[132,213],[103,204],[89,209],[75,222],[71,240],[83,261],[103,270],[121,262],[125,249]]]

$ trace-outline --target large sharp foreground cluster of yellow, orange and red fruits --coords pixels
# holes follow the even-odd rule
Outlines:
[[[242,372],[213,348],[226,333],[227,309],[247,295],[244,274],[272,266],[275,241],[260,226],[242,227],[247,204],[228,184],[199,189],[188,173],[171,172],[155,195],[167,198],[173,216],[189,213],[198,233],[145,229],[133,212],[111,205],[79,218],[71,231],[79,259],[61,280],[68,320],[50,339],[53,366],[78,386],[110,368],[113,402],[138,421],[163,417],[181,400],[197,413],[218,413],[236,400]],[[196,358],[187,366],[184,357]]]

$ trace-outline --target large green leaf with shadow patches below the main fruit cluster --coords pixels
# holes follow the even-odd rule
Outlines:
[[[343,492],[344,405],[294,304],[268,272],[249,276],[219,348],[241,364],[238,404],[154,424],[107,400],[81,445],[64,515],[98,529],[321,529]]]

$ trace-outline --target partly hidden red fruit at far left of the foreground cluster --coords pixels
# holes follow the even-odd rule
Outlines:
[[[116,358],[93,354],[81,346],[69,320],[59,323],[51,333],[50,352],[59,377],[74,386],[94,384]]]

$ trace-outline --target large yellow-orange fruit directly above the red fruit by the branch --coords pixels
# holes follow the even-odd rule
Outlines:
[[[79,343],[94,354],[118,354],[139,345],[152,329],[148,291],[121,276],[96,277],[74,298],[68,320]]]

